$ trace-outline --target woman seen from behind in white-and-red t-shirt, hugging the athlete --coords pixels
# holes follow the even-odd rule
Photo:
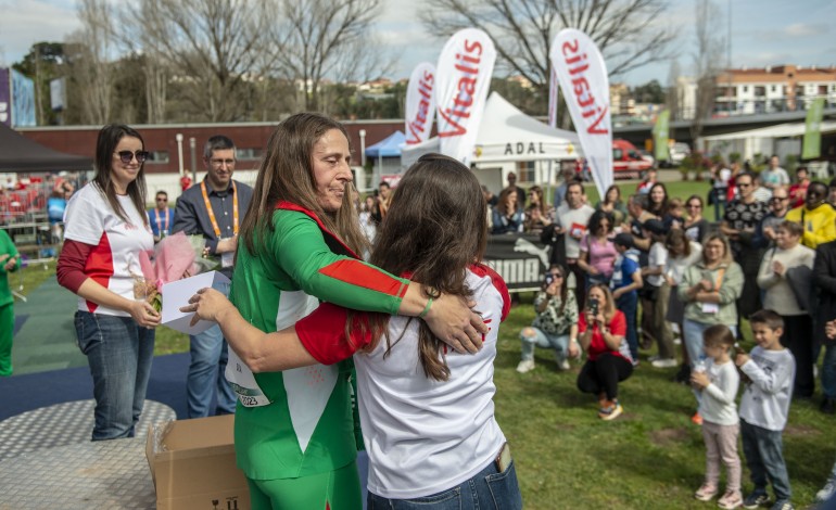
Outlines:
[[[253,372],[332,365],[354,355],[369,454],[369,508],[400,508],[395,500],[427,509],[522,508],[510,452],[494,418],[493,361],[510,298],[502,278],[477,263],[487,226],[483,207],[473,204],[483,200],[467,167],[440,154],[422,156],[395,190],[370,259],[438,293],[476,302],[490,328],[478,354],[448,350],[422,321],[328,303],[295,329],[270,334],[252,327],[211,289],[181,308],[197,311],[194,320],[217,321]],[[429,299],[425,313],[431,306]]]

